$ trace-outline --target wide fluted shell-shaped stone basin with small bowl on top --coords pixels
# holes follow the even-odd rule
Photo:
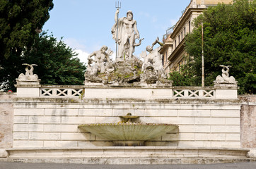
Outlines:
[[[141,123],[137,120],[139,116],[132,113],[120,118],[122,120],[118,123],[83,124],[78,127],[112,141],[114,146],[144,146],[146,140],[160,137],[178,127],[163,123]]]

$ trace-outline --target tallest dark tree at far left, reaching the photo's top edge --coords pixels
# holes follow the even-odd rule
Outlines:
[[[13,89],[15,78],[24,70],[21,54],[38,37],[52,8],[52,0],[0,0],[1,89]]]

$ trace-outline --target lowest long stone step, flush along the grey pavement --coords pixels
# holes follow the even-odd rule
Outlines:
[[[0,158],[19,163],[81,163],[105,165],[214,164],[255,162],[255,158]]]

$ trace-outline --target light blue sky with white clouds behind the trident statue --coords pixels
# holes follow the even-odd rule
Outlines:
[[[52,33],[67,46],[74,49],[81,62],[87,63],[87,56],[105,45],[114,51],[110,56],[115,60],[116,44],[112,39],[111,27],[115,23],[115,0],[54,0],[42,30]],[[190,0],[120,0],[119,18],[132,11],[139,35],[144,40],[136,46],[134,56],[139,57],[146,46],[157,37],[163,38],[168,27],[177,23],[182,11]],[[139,42],[136,39],[136,42]]]

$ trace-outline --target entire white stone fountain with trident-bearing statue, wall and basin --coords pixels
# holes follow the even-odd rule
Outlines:
[[[89,54],[83,86],[41,85],[33,65],[25,64],[26,73],[19,75],[13,99],[13,148],[6,149],[6,161],[248,161],[248,149],[240,149],[241,103],[237,82],[228,74],[230,66],[221,65],[223,75],[216,78],[214,87],[172,87],[163,70],[163,44],[156,38],[141,52],[141,61],[133,55],[143,38],[136,30],[132,11],[120,19],[118,13],[111,30],[117,56],[112,61],[113,51],[104,45]],[[136,115],[122,115],[117,123],[97,122],[117,118],[113,115],[124,111]],[[143,120],[137,114],[145,115]],[[96,123],[89,124],[93,120]],[[97,137],[87,137],[89,134],[78,132],[78,128]]]

